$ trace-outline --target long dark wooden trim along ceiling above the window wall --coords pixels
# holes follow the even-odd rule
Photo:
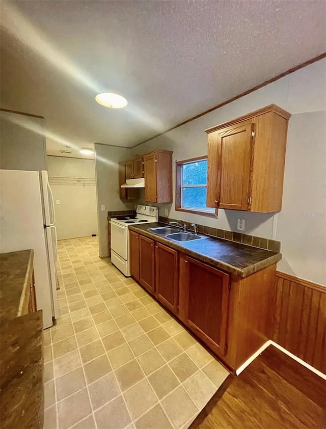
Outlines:
[[[179,128],[180,126],[185,125],[185,124],[187,124],[188,122],[192,122],[192,121],[194,121],[195,119],[198,119],[198,118],[200,118],[201,116],[206,115],[207,113],[213,112],[214,110],[219,109],[219,108],[221,108],[221,107],[225,106],[226,104],[232,103],[232,101],[235,101],[235,100],[237,100],[238,98],[244,97],[245,95],[248,95],[248,94],[250,94],[251,92],[257,91],[257,89],[263,88],[263,87],[265,87],[266,85],[269,85],[269,84],[271,84],[271,83],[273,83],[273,82],[275,82],[275,81],[278,81],[278,80],[279,80],[279,79],[281,79],[282,77],[285,77],[285,76],[287,76],[288,74],[294,73],[294,72],[295,72],[295,71],[297,71],[297,70],[300,70],[300,69],[302,69],[302,68],[304,68],[304,67],[306,67],[306,66],[309,66],[310,64],[313,64],[313,63],[315,63],[316,61],[320,61],[320,60],[322,60],[323,58],[326,58],[326,52],[323,52],[323,53],[321,53],[320,55],[318,55],[317,57],[311,58],[310,60],[307,60],[307,61],[305,61],[304,63],[298,64],[297,66],[292,67],[292,68],[290,68],[290,69],[288,69],[288,70],[284,71],[283,73],[278,74],[278,75],[277,75],[277,76],[275,76],[275,77],[272,77],[272,78],[270,78],[270,79],[267,79],[267,81],[264,81],[263,83],[261,83],[261,84],[259,84],[259,85],[256,85],[255,87],[253,87],[253,88],[251,88],[251,89],[249,89],[249,90],[247,90],[247,91],[241,92],[240,94],[238,94],[238,95],[236,95],[236,96],[234,96],[234,97],[232,97],[232,98],[230,98],[230,99],[228,99],[228,100],[226,100],[226,101],[223,101],[222,103],[217,104],[216,106],[214,106],[214,107],[212,107],[212,108],[210,108],[210,109],[208,109],[208,110],[205,110],[205,112],[202,112],[202,113],[200,113],[200,114],[198,114],[198,115],[196,115],[196,116],[193,116],[192,118],[189,118],[189,119],[187,119],[187,120],[185,120],[185,121],[183,121],[183,122],[180,122],[179,124],[174,125],[173,127],[169,128],[169,129],[167,129],[167,130],[165,130],[165,131],[163,131],[163,132],[160,132],[159,134],[156,134],[155,136],[150,137],[149,139],[144,140],[144,141],[143,141],[143,142],[141,142],[141,143],[137,143],[136,145],[131,146],[131,147],[132,147],[132,148],[134,148],[134,147],[140,146],[140,145],[142,145],[143,143],[147,143],[147,142],[149,142],[150,140],[156,139],[156,137],[163,136],[164,134],[166,134],[166,133],[167,133],[167,132],[169,132],[169,131],[172,131],[172,130],[174,130],[174,129],[176,129],[176,128]]]

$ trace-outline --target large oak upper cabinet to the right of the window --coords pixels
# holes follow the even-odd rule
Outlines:
[[[206,130],[208,207],[281,210],[290,116],[271,104]]]

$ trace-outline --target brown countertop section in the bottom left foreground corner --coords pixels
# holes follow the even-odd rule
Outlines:
[[[42,311],[3,321],[0,336],[0,426],[2,429],[42,429]]]

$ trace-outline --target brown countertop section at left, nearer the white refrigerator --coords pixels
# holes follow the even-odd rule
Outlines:
[[[25,314],[30,297],[34,251],[0,254],[0,320]]]

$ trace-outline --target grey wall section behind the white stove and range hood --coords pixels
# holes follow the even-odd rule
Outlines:
[[[98,239],[100,257],[108,256],[107,212],[134,208],[135,203],[124,203],[119,197],[119,162],[131,156],[130,149],[94,144],[98,212]],[[105,210],[101,210],[101,205]]]

